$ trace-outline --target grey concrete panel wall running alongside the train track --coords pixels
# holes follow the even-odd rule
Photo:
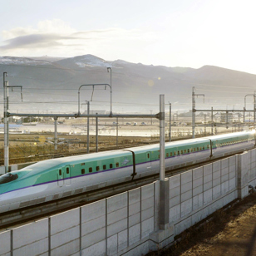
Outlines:
[[[144,255],[256,185],[256,150],[0,233],[0,255]],[[163,190],[162,190],[163,191]],[[161,210],[165,202],[166,210]],[[165,206],[166,206],[165,205]],[[163,223],[163,217],[167,223]]]

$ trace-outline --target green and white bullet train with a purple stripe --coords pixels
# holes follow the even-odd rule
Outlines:
[[[254,148],[255,131],[165,143],[166,170]],[[155,175],[159,145],[43,160],[0,176],[0,213]]]

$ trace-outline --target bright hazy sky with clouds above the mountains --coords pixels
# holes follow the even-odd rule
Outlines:
[[[254,0],[8,0],[0,56],[74,57],[256,74]]]

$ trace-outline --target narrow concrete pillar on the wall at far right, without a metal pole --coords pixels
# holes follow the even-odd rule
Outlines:
[[[237,185],[238,185],[238,196],[243,199],[249,194],[248,187],[248,171],[249,171],[249,153],[244,152],[243,154],[236,155],[237,163]]]

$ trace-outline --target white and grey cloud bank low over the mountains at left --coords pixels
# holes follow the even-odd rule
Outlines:
[[[139,29],[114,27],[77,31],[59,19],[38,22],[36,28],[16,27],[3,31],[2,37],[5,41],[0,44],[0,49],[4,55],[73,57],[91,53],[108,60],[127,59],[135,49],[140,52],[156,40],[154,32]]]

